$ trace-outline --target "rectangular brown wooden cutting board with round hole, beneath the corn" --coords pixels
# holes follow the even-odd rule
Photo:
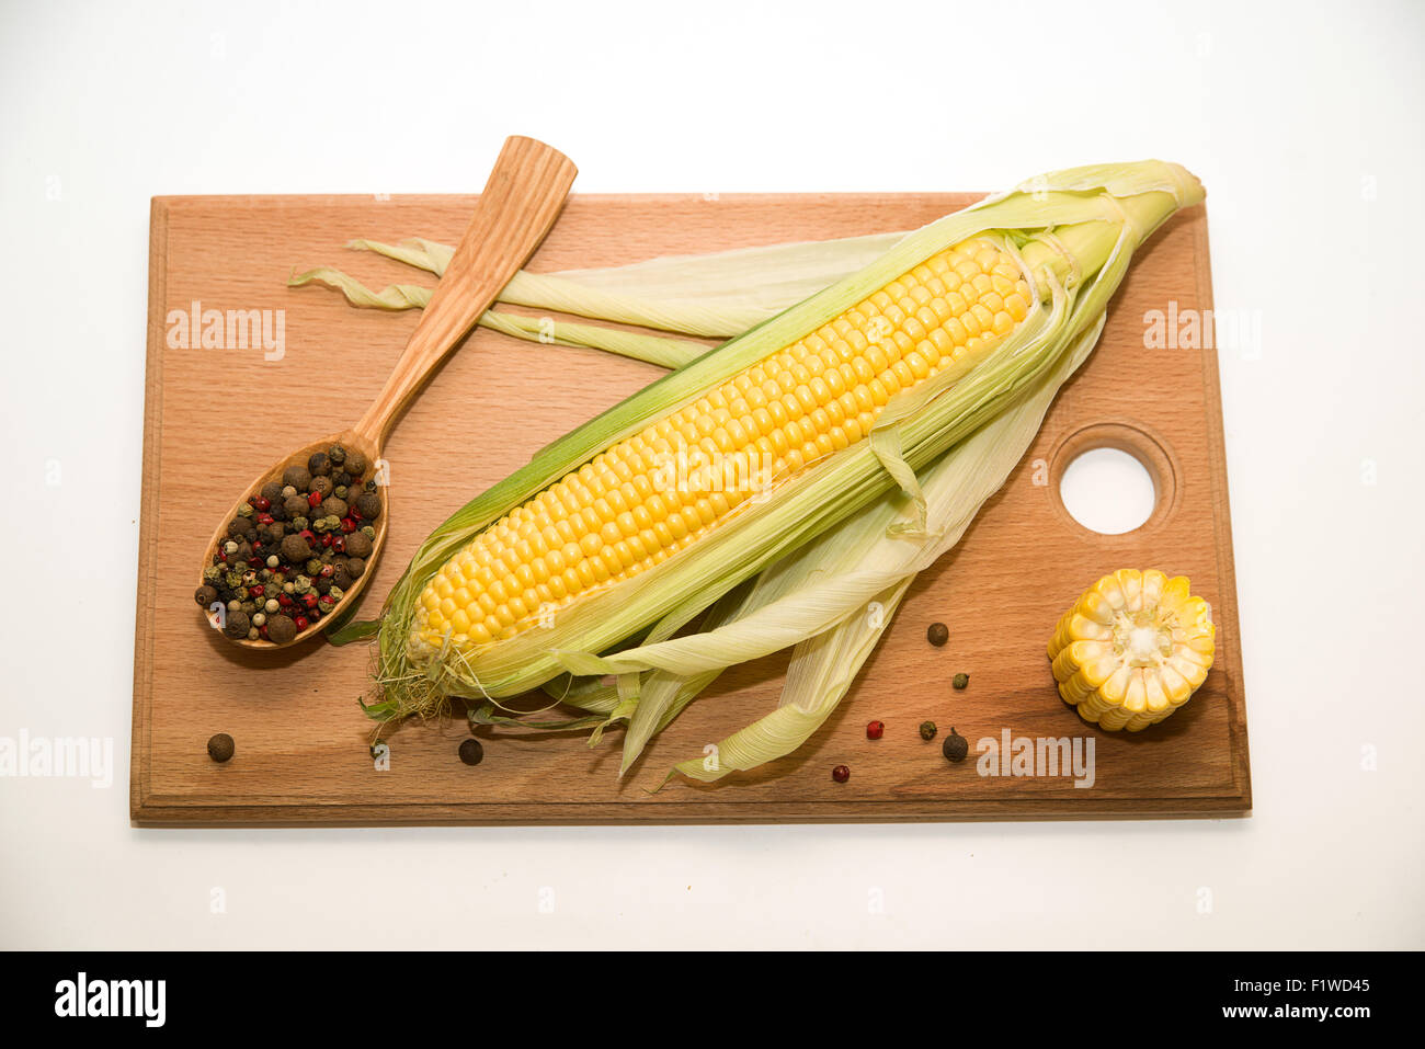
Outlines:
[[[978,194],[573,197],[530,268],[634,262],[795,239],[909,229]],[[1150,349],[1149,311],[1211,308],[1207,218],[1176,217],[1139,252],[1103,339],[1062,391],[1033,448],[960,544],[912,586],[881,647],[815,737],[752,774],[653,788],[675,761],[771,710],[787,654],[734,668],[618,780],[621,731],[482,728],[484,761],[457,748],[465,720],[390,733],[389,767],[368,750],[369,650],[325,641],[252,653],[209,630],[192,601],[195,564],[254,470],[346,426],[379,389],[415,314],[359,311],[336,294],[288,289],[294,268],[338,265],[373,286],[426,282],[355,237],[453,244],[473,197],[168,197],[152,202],[144,495],[134,640],[131,815],[141,825],[781,822],[1240,815],[1251,808],[1221,402],[1213,349]],[[422,281],[422,278],[428,278]],[[171,311],[272,311],[281,359],[181,338]],[[281,311],[281,314],[278,312]],[[261,316],[261,315],[259,315]],[[580,349],[479,331],[436,375],[388,449],[390,536],[365,611],[375,613],[420,539],[554,436],[658,376]],[[1154,475],[1149,522],[1102,536],[1057,496],[1080,450],[1117,446]],[[1218,653],[1207,683],[1146,733],[1104,733],[1057,697],[1045,644],[1059,614],[1119,567],[1191,577],[1213,604]],[[949,626],[933,648],[929,623]],[[952,690],[965,671],[969,687]],[[885,737],[865,725],[885,721]],[[919,723],[953,725],[970,760],[952,765]],[[232,735],[237,755],[208,758]],[[1087,775],[988,775],[980,740],[1074,740]],[[851,780],[835,784],[834,765]],[[1013,772],[1006,761],[996,771]],[[1047,772],[1045,767],[1040,772]],[[1076,785],[1076,781],[1084,785]]]

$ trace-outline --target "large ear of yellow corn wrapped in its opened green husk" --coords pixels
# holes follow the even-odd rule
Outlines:
[[[382,620],[335,639],[379,630],[368,713],[433,714],[446,696],[497,700],[566,671],[620,674],[631,708],[634,671],[670,647],[695,673],[849,614],[868,582],[855,572],[755,643],[667,640],[896,487],[919,523],[892,532],[933,546],[918,472],[1092,345],[1136,247],[1198,200],[1156,161],[1035,180],[571,430],[432,533]],[[660,459],[684,452],[688,476],[670,475]]]

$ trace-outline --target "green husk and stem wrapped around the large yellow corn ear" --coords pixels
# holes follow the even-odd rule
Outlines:
[[[1035,180],[1029,188],[905,237],[869,267],[704,353],[554,442],[529,466],[452,516],[418,552],[380,620],[382,698],[370,713],[430,714],[446,696],[497,700],[567,670],[620,674],[624,700],[620,707],[637,717],[638,693],[663,687],[656,676],[644,681],[644,670],[661,668],[688,678],[751,658],[768,644],[785,647],[825,633],[849,614],[844,606],[854,596],[852,609],[865,603],[862,591],[875,582],[868,573],[848,573],[845,586],[834,594],[839,604],[799,610],[768,624],[772,629],[761,631],[758,639],[714,630],[694,634],[693,644],[688,639],[668,640],[738,583],[896,487],[906,490],[915,507],[913,519],[901,522],[898,534],[928,534],[928,503],[916,473],[1036,388],[1067,349],[1100,322],[1141,239],[1178,207],[1200,198],[1201,190],[1191,175],[1159,162],[1076,170]],[[611,586],[561,611],[553,630],[527,630],[473,657],[449,651],[435,658],[412,658],[406,637],[416,596],[479,530],[603,448],[835,318],[931,254],[980,234],[1000,237],[1017,254],[1042,302],[1006,341],[975,361],[968,373],[946,372],[899,395],[886,406],[871,440],[784,480],[770,500],[744,503],[750,507],[745,513],[732,515],[688,552],[695,556],[671,557],[638,576],[636,587]],[[899,579],[903,573],[886,586],[893,587]],[[885,587],[871,593],[884,591]],[[359,636],[363,627],[351,630]],[[644,631],[648,633],[641,644],[631,651],[603,658],[593,654],[627,644]],[[673,694],[677,698],[687,691],[683,683]],[[665,724],[661,717],[657,720]]]

